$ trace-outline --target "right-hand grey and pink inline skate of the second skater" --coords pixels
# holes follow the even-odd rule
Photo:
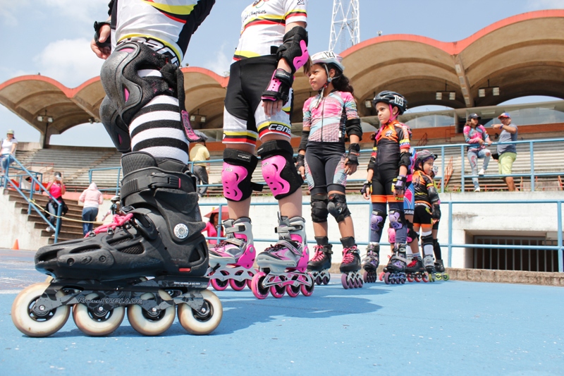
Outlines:
[[[305,220],[302,217],[281,217],[278,214],[278,242],[257,255],[259,272],[252,277],[252,293],[264,299],[269,292],[274,298],[284,293],[295,298],[300,291],[311,296],[315,282],[307,269],[309,250],[305,236]]]

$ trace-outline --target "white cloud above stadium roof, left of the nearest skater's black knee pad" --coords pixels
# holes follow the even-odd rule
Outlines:
[[[90,49],[90,40],[58,40],[33,59],[42,75],[75,87],[100,74],[104,61]]]

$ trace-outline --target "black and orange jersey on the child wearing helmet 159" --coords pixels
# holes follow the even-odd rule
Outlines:
[[[381,126],[376,138],[372,157],[376,160],[374,169],[382,166],[397,169],[400,161],[400,150],[409,148],[411,143],[411,130],[408,126],[397,120]]]

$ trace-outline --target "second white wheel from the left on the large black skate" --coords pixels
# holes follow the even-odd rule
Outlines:
[[[98,298],[97,293],[89,293],[85,299]],[[107,336],[118,329],[125,317],[125,308],[116,307],[106,313],[99,314],[85,304],[77,303],[73,307],[73,320],[80,331],[89,336]]]

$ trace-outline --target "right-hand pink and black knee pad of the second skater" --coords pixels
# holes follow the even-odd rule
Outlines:
[[[304,182],[295,168],[293,153],[290,142],[284,140],[264,142],[257,150],[262,159],[262,177],[276,200],[291,195]]]

